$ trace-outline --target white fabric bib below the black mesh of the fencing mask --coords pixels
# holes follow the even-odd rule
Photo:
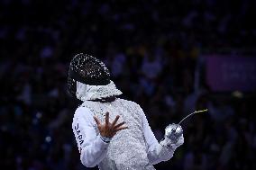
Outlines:
[[[83,102],[120,94],[122,92],[115,87],[113,81],[110,81],[108,85],[86,85],[77,81],[76,95]]]

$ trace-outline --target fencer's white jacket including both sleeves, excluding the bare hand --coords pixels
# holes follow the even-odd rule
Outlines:
[[[154,167],[152,165],[167,161],[173,157],[177,147],[169,148],[164,143],[166,141],[161,141],[160,143],[157,141],[142,108],[138,104],[118,98],[112,103],[91,101],[86,103],[78,107],[72,123],[80,151],[80,159],[84,166],[94,167],[98,165],[101,170],[153,170]],[[93,110],[92,108],[83,107],[90,104],[94,105]],[[110,112],[110,121],[114,120],[116,114],[120,114],[118,122],[126,121],[128,126],[127,130],[119,131],[110,143],[105,143],[99,138],[96,122],[93,119],[93,116],[96,115],[100,121],[104,122],[106,111]],[[138,121],[135,124],[130,122],[134,114],[138,114]],[[133,125],[135,127],[132,127]],[[122,152],[125,157],[119,152]],[[130,156],[135,161],[131,162]]]

